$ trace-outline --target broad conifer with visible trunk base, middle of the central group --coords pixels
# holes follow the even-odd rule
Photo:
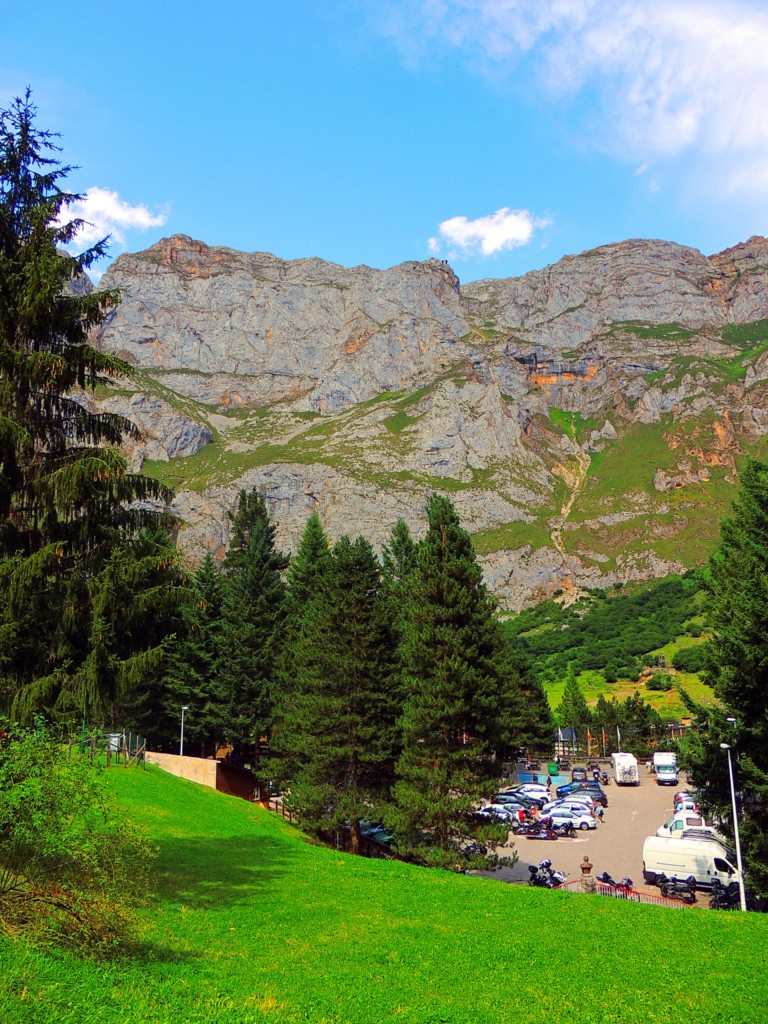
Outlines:
[[[389,605],[368,541],[342,538],[315,577],[294,648],[296,678],[276,737],[291,772],[290,803],[318,830],[376,814],[392,782],[400,699]]]

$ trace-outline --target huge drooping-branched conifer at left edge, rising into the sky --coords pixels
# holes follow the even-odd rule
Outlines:
[[[137,500],[170,498],[127,470],[117,445],[135,427],[77,400],[78,388],[129,368],[88,342],[118,300],[79,287],[105,242],[69,254],[82,221],[67,208],[82,197],[62,189],[71,168],[35,117],[29,92],[0,112],[0,672],[6,700],[30,711],[82,703],[96,679],[110,688],[94,668],[110,559],[160,523]],[[159,654],[143,637],[133,643]]]

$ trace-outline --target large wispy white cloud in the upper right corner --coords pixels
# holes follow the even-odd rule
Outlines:
[[[495,75],[524,61],[535,87],[586,101],[595,148],[633,161],[689,154],[725,191],[768,190],[764,0],[391,0],[387,9],[385,31],[411,60],[449,49]]]

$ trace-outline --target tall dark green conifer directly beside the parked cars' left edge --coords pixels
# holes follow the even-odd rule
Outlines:
[[[397,845],[425,864],[486,866],[470,845],[473,808],[493,792],[496,751],[514,742],[515,680],[506,672],[496,604],[454,506],[433,495],[427,521],[408,584]]]

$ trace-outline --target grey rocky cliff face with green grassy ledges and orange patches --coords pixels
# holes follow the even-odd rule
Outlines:
[[[210,248],[122,256],[97,343],[136,368],[108,408],[177,488],[181,541],[223,551],[242,486],[291,549],[418,534],[457,504],[509,607],[702,560],[768,431],[768,242],[713,257],[633,240],[460,288],[437,260],[388,270]]]

